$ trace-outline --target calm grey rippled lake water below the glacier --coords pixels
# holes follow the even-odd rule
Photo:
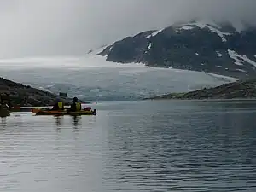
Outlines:
[[[100,102],[0,119],[0,191],[256,191],[256,102]]]

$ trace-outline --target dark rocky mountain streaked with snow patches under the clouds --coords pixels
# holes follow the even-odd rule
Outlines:
[[[107,61],[113,62],[249,78],[256,75],[256,28],[237,32],[227,22],[192,21],[124,38],[98,55],[107,55]]]

